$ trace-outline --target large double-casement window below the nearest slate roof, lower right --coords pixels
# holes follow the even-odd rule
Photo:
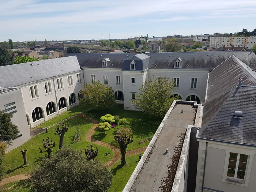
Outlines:
[[[244,179],[247,161],[248,161],[248,155],[239,154],[239,153],[230,153],[227,176],[238,178],[238,179]]]

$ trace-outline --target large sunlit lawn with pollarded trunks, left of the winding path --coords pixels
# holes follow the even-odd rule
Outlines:
[[[93,124],[91,123],[91,121],[85,120],[83,117],[79,116],[68,119],[66,123],[69,124],[69,129],[68,132],[65,133],[64,145],[71,144],[72,147],[79,150],[80,148],[83,148],[84,151],[84,148],[87,148],[87,145],[91,144],[91,142],[88,142],[84,138],[84,136],[92,128]],[[76,131],[75,125],[77,125],[82,131],[81,141],[78,143],[75,143],[73,141],[73,135]],[[41,133],[24,143],[22,146],[7,153],[4,158],[4,165],[6,171],[5,177],[10,177],[21,173],[30,173],[33,171],[34,167],[41,161],[41,159],[47,156],[46,152],[39,153],[38,149],[39,147],[42,147],[41,143],[43,138],[46,139],[47,137],[49,137],[53,141],[56,141],[56,147],[53,148],[53,152],[57,151],[59,149],[59,135],[54,135],[54,128],[55,126],[49,128],[48,133]],[[94,145],[93,147],[95,148],[96,146]],[[114,156],[112,150],[110,150],[109,148],[103,146],[97,147],[99,150],[99,154],[96,159],[99,159],[103,163],[107,162],[110,158]],[[26,167],[23,167],[23,157],[20,153],[20,149],[22,148],[27,148],[27,161],[29,165]],[[109,155],[105,156],[106,153],[109,153]]]

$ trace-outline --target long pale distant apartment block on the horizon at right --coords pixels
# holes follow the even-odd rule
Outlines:
[[[251,37],[211,37],[210,47],[219,48],[225,45],[230,47],[245,47],[246,49],[252,49],[253,45],[256,45],[256,35]]]

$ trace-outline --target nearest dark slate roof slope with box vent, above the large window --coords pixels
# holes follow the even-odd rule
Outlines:
[[[237,87],[200,137],[256,145],[256,86]],[[234,112],[242,111],[242,118]]]

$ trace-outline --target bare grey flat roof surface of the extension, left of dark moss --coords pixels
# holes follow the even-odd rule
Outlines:
[[[183,113],[181,113],[182,109]],[[138,174],[131,192],[170,191],[163,185],[170,185],[170,183],[165,183],[170,181],[170,177],[173,177],[170,172],[175,176],[177,165],[175,166],[173,162],[180,158],[175,156],[176,150],[182,148],[183,144],[180,136],[185,136],[188,125],[194,124],[195,115],[196,110],[192,105],[177,104],[174,106]],[[165,153],[166,148],[168,148],[167,154]],[[173,167],[175,168],[173,169]]]

